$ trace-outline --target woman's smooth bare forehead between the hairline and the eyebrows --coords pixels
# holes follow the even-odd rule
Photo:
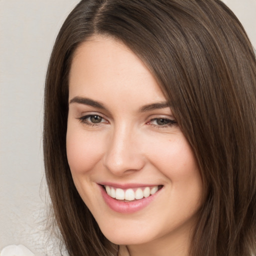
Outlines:
[[[123,43],[94,36],[73,55],[69,73],[69,99],[74,96],[105,100],[110,93],[140,101],[164,100],[156,79],[145,64]]]

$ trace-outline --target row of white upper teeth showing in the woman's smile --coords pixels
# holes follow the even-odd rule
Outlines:
[[[114,188],[112,186],[104,186],[106,189],[106,193],[110,195],[112,198],[118,200],[127,200],[133,201],[134,199],[141,199],[143,197],[148,197],[151,194],[154,194],[159,188],[158,186],[149,187],[146,186],[144,188],[128,188],[126,190],[121,188]]]

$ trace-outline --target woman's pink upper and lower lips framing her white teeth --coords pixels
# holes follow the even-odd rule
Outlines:
[[[100,187],[100,192],[102,194],[102,197],[105,201],[105,203],[108,205],[108,207],[116,212],[120,213],[133,213],[136,211],[139,211],[146,207],[150,202],[152,202],[155,197],[157,196],[158,192],[161,190],[159,189],[157,192],[154,194],[144,197],[142,199],[134,200],[134,201],[121,201],[121,200],[116,200],[109,196],[105,189],[103,188],[102,184],[98,184]],[[153,185],[145,185],[145,184],[128,184],[128,185],[120,185],[120,184],[113,184],[113,183],[104,183],[104,185],[110,185],[122,189],[126,188],[134,188],[134,187],[144,187],[144,186],[153,186]]]

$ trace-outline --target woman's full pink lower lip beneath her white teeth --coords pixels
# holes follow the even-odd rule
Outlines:
[[[103,196],[105,203],[109,206],[109,208],[120,213],[133,213],[143,209],[155,198],[155,195],[159,191],[158,190],[156,193],[146,198],[124,202],[124,201],[116,200],[112,198],[106,193],[106,190],[102,187],[102,185],[99,185],[99,186],[100,186],[101,194]]]

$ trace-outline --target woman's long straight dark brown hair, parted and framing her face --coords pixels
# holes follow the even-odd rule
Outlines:
[[[77,193],[66,158],[68,73],[93,34],[126,44],[157,79],[198,163],[205,201],[191,256],[256,253],[256,61],[219,0],[81,0],[50,57],[44,95],[45,174],[70,255],[113,255]]]

